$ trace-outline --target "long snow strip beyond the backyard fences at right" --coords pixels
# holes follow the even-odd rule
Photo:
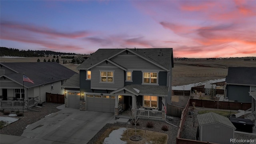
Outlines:
[[[216,80],[206,80],[204,82],[198,82],[198,83],[194,83],[194,84],[187,84],[187,85],[183,85],[183,86],[172,86],[172,90],[191,90],[192,87],[194,86],[202,86],[205,84],[212,84],[212,83],[216,83],[216,82],[224,82],[226,80],[226,78],[220,78],[220,79],[216,79]]]

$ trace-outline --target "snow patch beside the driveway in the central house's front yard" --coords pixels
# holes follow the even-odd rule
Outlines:
[[[103,144],[127,144],[127,142],[120,140],[125,130],[126,128],[119,128],[117,130],[113,130],[109,134],[109,136],[104,139]]]

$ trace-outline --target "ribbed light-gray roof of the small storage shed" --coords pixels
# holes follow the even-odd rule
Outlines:
[[[197,115],[198,119],[198,125],[203,126],[203,125],[208,125],[208,124],[214,124],[214,123],[220,123],[224,124],[230,128],[236,129],[236,127],[230,122],[230,120],[225,117],[221,116],[219,114],[216,114],[214,112],[208,112],[205,114],[198,114]]]

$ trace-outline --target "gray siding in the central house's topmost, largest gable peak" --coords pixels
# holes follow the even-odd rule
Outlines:
[[[128,51],[127,51],[128,52]],[[111,59],[113,62],[123,66],[127,69],[148,69],[148,70],[161,70],[158,66],[128,52],[115,56]]]

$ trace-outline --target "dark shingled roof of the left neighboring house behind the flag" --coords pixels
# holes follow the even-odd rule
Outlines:
[[[18,72],[3,76],[20,84],[23,84],[23,73],[25,73],[25,76],[34,81],[34,84],[24,82],[24,86],[27,88],[64,80],[76,74],[73,70],[57,62],[5,62],[0,65]]]

